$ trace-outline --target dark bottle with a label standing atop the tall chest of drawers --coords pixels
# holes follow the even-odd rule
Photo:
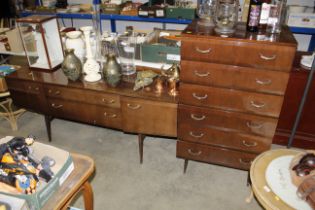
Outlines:
[[[250,0],[246,29],[249,32],[257,32],[261,13],[262,0]]]

